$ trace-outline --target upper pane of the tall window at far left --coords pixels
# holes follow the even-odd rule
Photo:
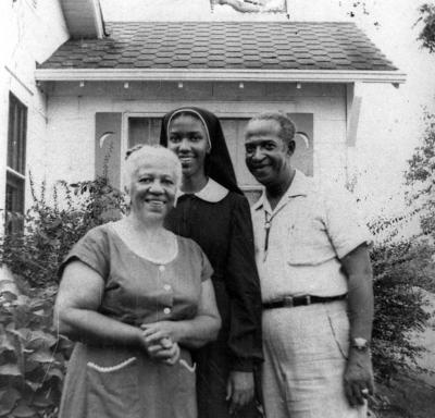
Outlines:
[[[27,108],[9,96],[8,167],[24,174],[26,167]]]

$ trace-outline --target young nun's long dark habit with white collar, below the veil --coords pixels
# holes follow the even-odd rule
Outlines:
[[[199,193],[178,196],[165,225],[199,244],[214,270],[222,328],[217,341],[194,352],[198,416],[227,418],[229,372],[252,371],[262,359],[261,295],[249,204],[210,179]],[[257,416],[253,403],[235,415]]]

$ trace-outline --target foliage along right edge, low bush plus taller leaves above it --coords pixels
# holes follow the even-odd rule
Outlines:
[[[435,291],[435,115],[425,113],[426,130],[405,174],[408,218],[419,216],[421,233],[399,237],[398,225],[407,219],[380,220],[372,228],[383,239],[372,251],[376,314],[374,320],[374,365],[382,379],[415,365],[423,348],[413,342],[428,314],[422,288]]]

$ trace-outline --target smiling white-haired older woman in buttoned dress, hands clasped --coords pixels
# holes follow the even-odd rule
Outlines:
[[[89,231],[62,266],[54,319],[75,340],[60,417],[195,418],[188,348],[216,337],[212,268],[166,231],[177,158],[144,146],[125,162],[129,214]]]

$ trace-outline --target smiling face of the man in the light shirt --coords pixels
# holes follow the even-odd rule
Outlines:
[[[289,148],[278,136],[279,131],[276,121],[253,120],[248,123],[245,132],[246,165],[266,187],[285,183],[291,175],[293,147]]]

